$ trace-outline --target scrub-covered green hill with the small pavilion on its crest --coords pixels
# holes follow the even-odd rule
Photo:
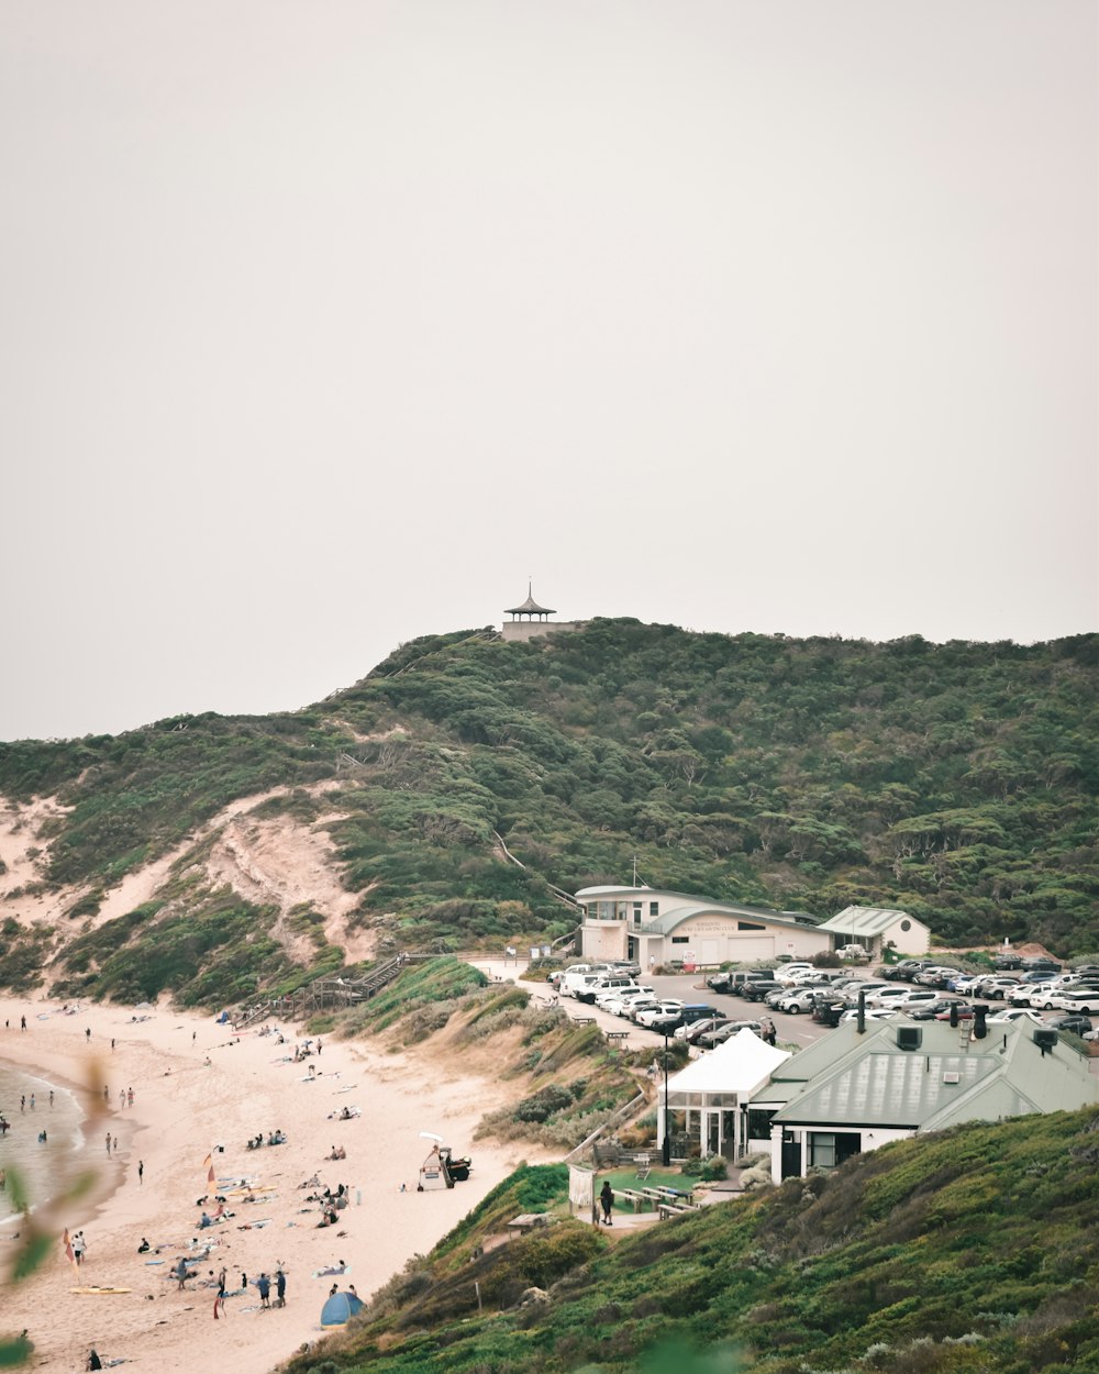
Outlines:
[[[1099,636],[871,644],[635,621],[526,644],[463,632],[403,646],[293,714],[0,745],[0,794],[67,808],[43,834],[37,877],[66,893],[62,944],[169,852],[181,867],[165,916],[229,903],[273,930],[262,901],[240,908],[187,861],[228,804],[265,797],[257,818],[331,837],[359,899],[349,925],[383,943],[565,933],[554,889],[621,882],[636,856],[654,886],[820,916],[897,905],[945,943],[1030,938],[1072,955],[1099,945],[1098,697]],[[317,966],[338,965],[316,914],[294,919]],[[131,926],[120,940],[139,938]],[[85,976],[98,967],[85,960]],[[217,1000],[217,978],[191,984]]]

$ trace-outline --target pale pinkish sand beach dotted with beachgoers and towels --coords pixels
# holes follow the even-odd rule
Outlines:
[[[26,1032],[19,1030],[21,1015]],[[10,1237],[18,1227],[0,1230],[3,1330],[27,1329],[34,1342],[30,1367],[82,1370],[95,1347],[104,1363],[125,1359],[158,1374],[195,1367],[261,1374],[321,1338],[320,1309],[332,1283],[354,1285],[368,1301],[522,1158],[539,1154],[519,1145],[474,1146],[477,1123],[507,1098],[499,1084],[462,1077],[422,1055],[387,1054],[372,1041],[321,1037],[320,1055],[288,1062],[304,1040],[299,1028],[280,1026],[284,1044],[260,1029],[238,1040],[228,1026],[166,1004],[140,1013],[89,1006],[73,1015],[62,1014],[56,1000],[0,1000],[0,1058],[78,1088],[88,1112],[78,1167],[98,1173],[91,1194],[45,1217],[58,1234],[62,1227],[85,1232],[78,1275],[58,1241],[33,1278],[11,1283],[18,1242]],[[133,1106],[120,1107],[120,1091],[131,1087]],[[330,1120],[345,1106],[361,1114]],[[36,1120],[36,1128],[40,1124],[47,1123]],[[246,1149],[250,1138],[262,1132],[267,1139],[275,1129],[287,1134],[286,1145]],[[107,1131],[118,1138],[110,1156]],[[473,1156],[471,1179],[452,1190],[418,1193],[419,1167],[431,1146],[420,1131],[434,1131],[456,1154]],[[328,1161],[332,1146],[341,1145],[346,1160]],[[216,1186],[207,1183],[207,1154]],[[299,1187],[315,1175],[332,1191],[339,1183],[349,1187],[350,1205],[332,1227],[317,1228],[319,1205],[306,1201],[316,1189]],[[250,1180],[256,1202],[229,1191],[229,1180],[242,1179]],[[224,1194],[234,1215],[199,1230],[196,1202],[207,1191]],[[154,1246],[148,1254],[137,1253],[143,1237]],[[229,1296],[224,1319],[214,1320],[214,1287],[191,1281],[179,1292],[169,1278],[192,1238],[216,1243],[196,1267],[207,1279],[227,1265],[231,1294],[242,1270],[253,1281],[282,1265],[286,1307],[262,1311],[250,1286],[247,1296]],[[341,1261],[345,1274],[316,1275]],[[129,1292],[71,1292],[80,1286]]]

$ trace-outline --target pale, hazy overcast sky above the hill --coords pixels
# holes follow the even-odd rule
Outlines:
[[[1,0],[0,738],[1099,628],[1092,0]]]

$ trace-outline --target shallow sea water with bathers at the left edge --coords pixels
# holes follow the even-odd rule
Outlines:
[[[22,1110],[21,1098],[26,1099]],[[0,1169],[7,1171],[15,1165],[26,1180],[32,1206],[40,1206],[52,1197],[62,1179],[71,1176],[77,1156],[84,1150],[84,1113],[67,1088],[3,1061],[0,1112],[11,1125],[11,1129],[0,1135]],[[38,1140],[40,1131],[45,1131],[45,1143]],[[4,1189],[0,1191],[0,1224],[11,1215],[11,1190]]]

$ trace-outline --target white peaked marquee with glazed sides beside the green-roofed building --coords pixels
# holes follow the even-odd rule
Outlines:
[[[789,1058],[789,1050],[767,1044],[745,1026],[716,1050],[692,1059],[668,1080],[668,1098],[666,1102],[661,1098],[657,1113],[659,1143],[664,1145],[668,1116],[683,1112],[687,1135],[699,1142],[703,1158],[724,1154],[739,1160],[747,1143],[749,1102]]]

